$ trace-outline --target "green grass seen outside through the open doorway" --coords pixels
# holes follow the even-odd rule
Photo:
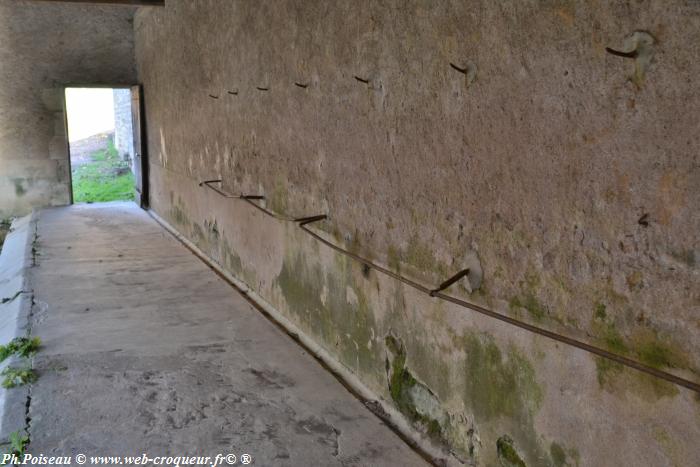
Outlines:
[[[109,140],[107,149],[91,157],[92,162],[73,169],[73,202],[133,201],[134,174],[119,157],[114,142]]]

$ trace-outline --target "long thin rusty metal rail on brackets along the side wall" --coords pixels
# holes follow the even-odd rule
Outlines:
[[[210,180],[209,182],[220,182],[220,180],[214,180],[214,181]],[[214,189],[207,182],[200,183],[200,186],[202,186],[202,185],[206,185],[206,186],[209,186],[210,188]],[[219,190],[215,190],[215,191],[219,192]],[[219,193],[221,194],[223,192],[219,192]],[[235,196],[230,196],[230,197],[235,197]],[[670,383],[677,384],[678,386],[682,386],[686,389],[690,389],[691,391],[695,391],[696,393],[700,393],[700,384],[695,383],[693,381],[687,380],[685,378],[681,378],[679,376],[668,373],[666,371],[658,370],[658,369],[650,367],[648,365],[644,365],[643,363],[640,363],[636,360],[632,360],[631,358],[623,357],[621,355],[609,352],[605,349],[602,349],[600,347],[596,347],[594,345],[587,344],[587,343],[579,341],[577,339],[573,339],[571,337],[557,334],[555,332],[549,331],[549,330],[541,328],[539,326],[535,326],[535,325],[526,323],[524,321],[520,321],[518,319],[511,318],[510,316],[503,315],[501,313],[497,313],[493,310],[489,310],[488,308],[484,308],[484,307],[477,305],[475,303],[471,303],[471,302],[468,302],[466,300],[462,300],[460,298],[453,297],[451,295],[447,295],[447,294],[442,292],[442,290],[446,289],[447,287],[454,284],[462,277],[469,274],[469,269],[464,269],[464,270],[458,272],[454,276],[450,277],[449,279],[447,279],[446,281],[441,283],[437,288],[431,289],[431,288],[426,287],[426,286],[424,286],[416,281],[413,281],[407,277],[404,277],[400,274],[397,274],[393,271],[390,271],[387,268],[384,268],[378,264],[375,264],[366,258],[363,258],[359,255],[356,255],[355,253],[352,253],[348,250],[345,250],[345,249],[333,244],[332,242],[326,240],[321,235],[317,234],[316,232],[310,230],[307,227],[309,224],[311,224],[313,222],[318,222],[318,221],[327,219],[326,215],[311,216],[311,217],[299,218],[299,219],[281,218],[281,217],[277,216],[275,213],[268,211],[267,209],[253,203],[250,200],[247,200],[245,198],[241,198],[241,199],[244,199],[244,201],[247,201],[252,206],[256,207],[257,209],[263,211],[264,213],[266,213],[266,214],[268,214],[276,219],[290,220],[292,222],[298,222],[299,227],[302,230],[304,230],[306,233],[308,233],[313,238],[315,238],[319,242],[323,243],[327,247],[329,247],[329,248],[331,248],[339,253],[342,253],[350,258],[353,258],[354,260],[364,264],[365,266],[367,266],[371,269],[374,269],[375,271],[379,271],[379,272],[381,272],[381,273],[383,273],[383,274],[385,274],[393,279],[396,279],[396,280],[398,280],[398,281],[400,281],[400,282],[402,282],[410,287],[413,287],[414,289],[416,289],[420,292],[428,294],[431,297],[443,299],[445,301],[448,301],[448,302],[453,303],[455,305],[459,305],[463,308],[467,308],[469,310],[475,311],[477,313],[488,316],[490,318],[494,318],[494,319],[497,319],[497,320],[502,321],[504,323],[511,324],[511,325],[518,327],[520,329],[524,329],[526,331],[532,332],[532,333],[540,335],[540,336],[547,337],[547,338],[552,339],[554,341],[570,345],[571,347],[575,347],[575,348],[584,350],[586,352],[592,353],[592,354],[597,355],[599,357],[607,358],[607,359],[612,360],[614,362],[617,362],[621,365],[627,366],[629,368],[633,368],[637,371],[641,371],[642,373],[646,373],[646,374],[649,374],[651,376],[655,376],[659,379],[663,379],[663,380],[666,380]]]

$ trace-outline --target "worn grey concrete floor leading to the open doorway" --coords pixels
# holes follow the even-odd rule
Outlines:
[[[136,205],[45,210],[38,233],[30,453],[425,464]]]

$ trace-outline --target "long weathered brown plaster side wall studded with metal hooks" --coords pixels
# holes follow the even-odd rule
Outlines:
[[[173,0],[135,27],[151,204],[460,459],[686,465],[698,394],[197,182],[329,213],[427,285],[478,257],[452,293],[698,382],[699,22],[683,0]],[[628,37],[637,59],[606,53]]]

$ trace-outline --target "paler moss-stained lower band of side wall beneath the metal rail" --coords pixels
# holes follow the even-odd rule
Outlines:
[[[601,380],[607,363],[586,352],[368,271],[186,176],[153,165],[152,177],[160,215],[455,459],[656,466],[700,455],[694,393],[614,365]]]

